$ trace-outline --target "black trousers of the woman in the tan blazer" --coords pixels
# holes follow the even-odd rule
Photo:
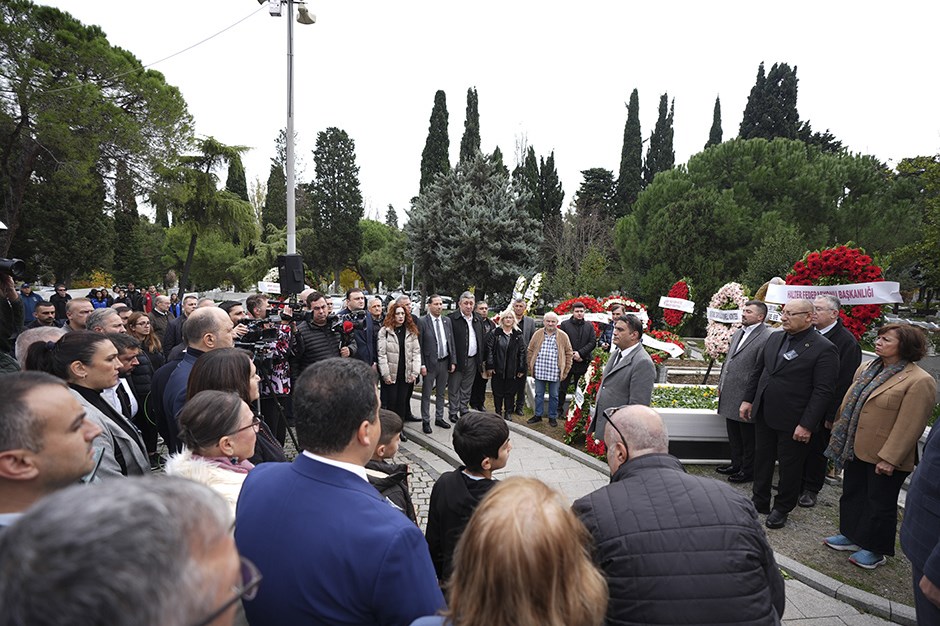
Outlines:
[[[845,464],[839,499],[839,532],[877,554],[894,556],[898,528],[898,493],[910,472],[876,474],[865,461]]]

